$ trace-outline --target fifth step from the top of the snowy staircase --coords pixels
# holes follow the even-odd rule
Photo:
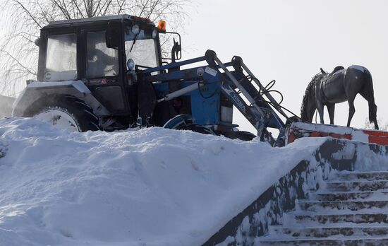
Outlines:
[[[328,225],[330,223],[382,223],[388,225],[387,213],[288,213],[284,214],[284,224]]]

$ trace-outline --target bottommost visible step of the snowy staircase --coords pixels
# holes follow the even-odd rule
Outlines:
[[[257,240],[255,245],[388,245],[388,238],[284,238],[284,239],[265,239]]]

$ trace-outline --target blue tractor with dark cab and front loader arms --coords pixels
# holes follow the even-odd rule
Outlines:
[[[162,57],[159,35],[175,35]],[[37,117],[70,131],[166,127],[250,140],[232,122],[234,106],[262,141],[284,142],[287,115],[241,57],[223,63],[212,50],[181,58],[181,37],[161,21],[104,16],[54,21],[41,30],[37,81],[13,104],[13,116]],[[169,62],[166,62],[169,61]],[[265,99],[266,98],[266,99]],[[273,139],[268,127],[279,129]]]

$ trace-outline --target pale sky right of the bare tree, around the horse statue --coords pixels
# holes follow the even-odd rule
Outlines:
[[[320,67],[332,71],[337,65],[365,66],[374,82],[377,118],[388,121],[384,110],[388,1],[199,0],[195,4],[183,35],[183,59],[202,56],[206,49],[213,49],[224,62],[241,56],[263,84],[276,79],[274,89],[283,93],[282,105],[297,115],[305,88]],[[368,102],[358,95],[355,107],[351,126],[363,127]],[[337,105],[334,123],[346,125],[347,117],[347,102]],[[238,122],[252,129],[248,122]],[[325,122],[329,122],[327,113]]]

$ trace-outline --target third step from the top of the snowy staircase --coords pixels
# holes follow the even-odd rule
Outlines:
[[[375,199],[379,197],[387,197],[388,190],[380,190],[378,192],[329,192],[329,193],[313,193],[310,198],[317,201],[348,201],[348,200],[363,200]]]

